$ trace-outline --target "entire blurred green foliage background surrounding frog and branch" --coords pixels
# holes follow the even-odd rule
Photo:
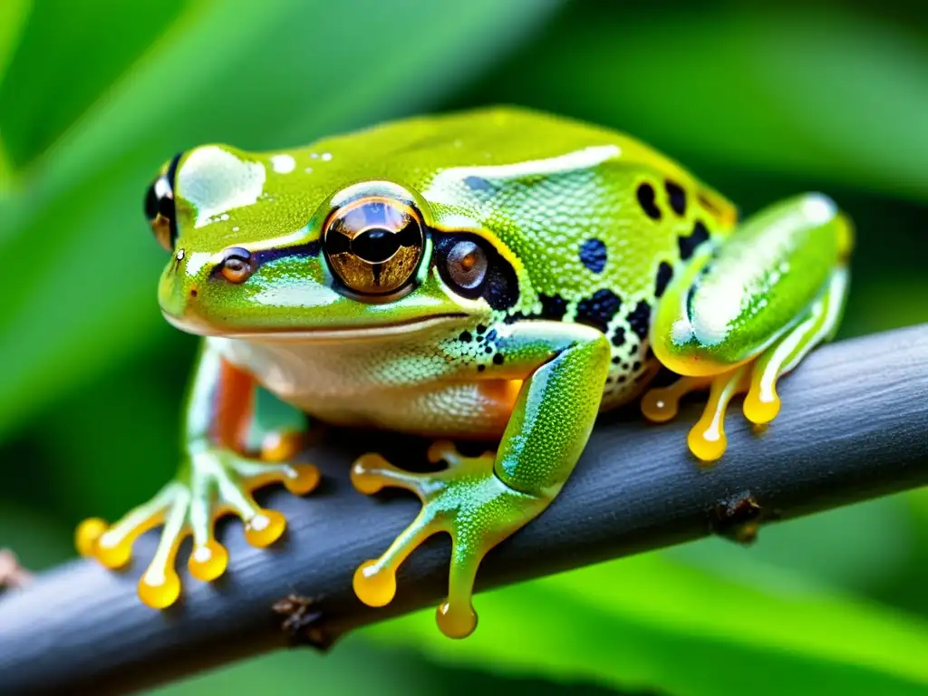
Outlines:
[[[159,314],[165,259],[142,196],[202,142],[285,148],[419,112],[552,110],[637,135],[744,213],[827,192],[859,230],[841,336],[928,321],[917,5],[3,0],[0,547],[32,569],[66,560],[76,522],[115,519],[174,472],[196,342]],[[928,495],[477,607],[463,642],[423,612],[324,659],[280,653],[158,693],[923,694]]]

